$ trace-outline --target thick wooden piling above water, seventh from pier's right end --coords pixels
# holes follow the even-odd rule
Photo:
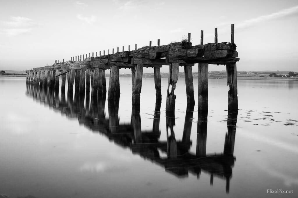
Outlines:
[[[120,97],[119,67],[111,66],[108,100],[117,100]]]

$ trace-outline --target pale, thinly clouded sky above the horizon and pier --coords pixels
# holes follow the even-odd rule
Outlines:
[[[0,0],[0,69],[32,69],[150,40],[166,45],[188,32],[198,45],[201,30],[206,44],[214,42],[215,27],[218,42],[229,42],[232,23],[238,71],[298,71],[297,0]],[[225,66],[209,65],[218,70]]]

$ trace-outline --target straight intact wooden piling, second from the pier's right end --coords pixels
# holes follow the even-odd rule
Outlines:
[[[198,111],[208,111],[208,64],[198,64]]]

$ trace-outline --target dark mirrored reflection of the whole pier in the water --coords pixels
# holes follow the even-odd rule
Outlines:
[[[85,94],[75,92],[73,97],[72,92],[67,92],[66,95],[65,91],[61,91],[59,98],[59,89],[27,84],[28,96],[49,105],[53,110],[60,111],[67,117],[77,118],[80,124],[92,132],[104,134],[115,144],[130,148],[133,153],[164,167],[166,172],[176,177],[187,177],[191,173],[199,178],[203,171],[211,175],[211,185],[214,176],[226,180],[226,191],[229,192],[229,180],[232,177],[232,167],[235,161],[233,152],[238,112],[228,113],[228,133],[225,138],[224,152],[207,154],[208,112],[199,111],[196,153],[191,153],[189,150],[192,145],[190,134],[193,123],[193,105],[187,105],[182,140],[176,140],[173,130],[175,116],[173,113],[167,112],[167,141],[160,141],[160,100],[156,102],[152,130],[142,131],[139,108],[132,107],[131,123],[119,123],[119,100],[108,102],[108,118],[106,118],[104,111],[106,95],[98,95],[97,98],[91,96],[90,98],[89,92],[87,93],[85,97]],[[207,107],[203,109],[207,109]]]

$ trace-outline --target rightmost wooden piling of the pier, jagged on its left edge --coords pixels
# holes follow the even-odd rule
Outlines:
[[[228,110],[229,111],[238,111],[236,64],[227,64],[226,65],[226,75],[227,75],[227,84],[229,86]]]

